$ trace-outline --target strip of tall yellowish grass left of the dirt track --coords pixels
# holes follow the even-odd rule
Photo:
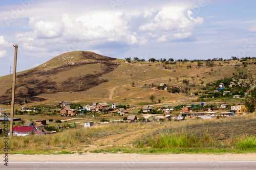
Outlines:
[[[112,134],[122,134],[135,129],[143,128],[141,124],[109,124],[92,128],[71,129],[52,135],[14,136],[8,140],[8,148],[39,149],[39,148],[68,148],[80,144],[90,144],[91,139],[107,137]],[[4,138],[0,138],[0,148],[4,148]]]

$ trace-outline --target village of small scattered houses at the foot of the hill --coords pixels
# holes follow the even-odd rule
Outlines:
[[[91,128],[110,123],[161,123],[164,121],[182,121],[199,118],[219,119],[247,114],[247,109],[244,105],[230,106],[230,104],[221,104],[216,106],[217,110],[214,110],[212,105],[209,106],[206,102],[192,104],[191,106],[168,107],[165,105],[158,108],[155,108],[153,105],[145,105],[142,108],[130,108],[119,103],[109,105],[108,103],[97,102],[92,103],[91,106],[87,104],[83,107],[76,107],[76,109],[72,109],[71,106],[72,104],[68,101],[58,102],[57,107],[61,109],[52,111],[55,113],[54,117],[39,120],[35,120],[34,117],[39,115],[38,110],[40,111],[40,109],[33,108],[34,110],[29,110],[31,108],[23,107],[22,110],[18,110],[20,114],[15,117],[27,114],[31,117],[30,121],[25,121],[25,118],[14,118],[17,126],[13,127],[13,133],[15,136],[44,135],[55,134],[72,128]],[[50,110],[49,108],[47,109],[48,111]],[[0,108],[0,114],[8,115],[9,113],[4,108]],[[2,125],[7,122],[2,116],[0,121]],[[8,118],[9,121],[10,118]],[[3,127],[0,124],[0,133],[2,131]]]

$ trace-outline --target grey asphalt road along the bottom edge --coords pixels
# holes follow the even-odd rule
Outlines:
[[[9,162],[0,169],[256,169],[256,161],[164,161],[164,162]]]

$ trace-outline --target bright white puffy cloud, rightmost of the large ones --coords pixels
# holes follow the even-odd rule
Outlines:
[[[160,36],[162,40],[183,39],[190,37],[195,27],[202,25],[203,18],[193,18],[193,12],[189,6],[169,6],[160,10],[154,19],[139,27],[143,32],[169,32]],[[161,40],[161,41],[162,41]]]

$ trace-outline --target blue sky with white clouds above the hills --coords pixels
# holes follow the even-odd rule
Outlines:
[[[71,51],[125,59],[256,57],[252,0],[0,1],[0,76]]]

